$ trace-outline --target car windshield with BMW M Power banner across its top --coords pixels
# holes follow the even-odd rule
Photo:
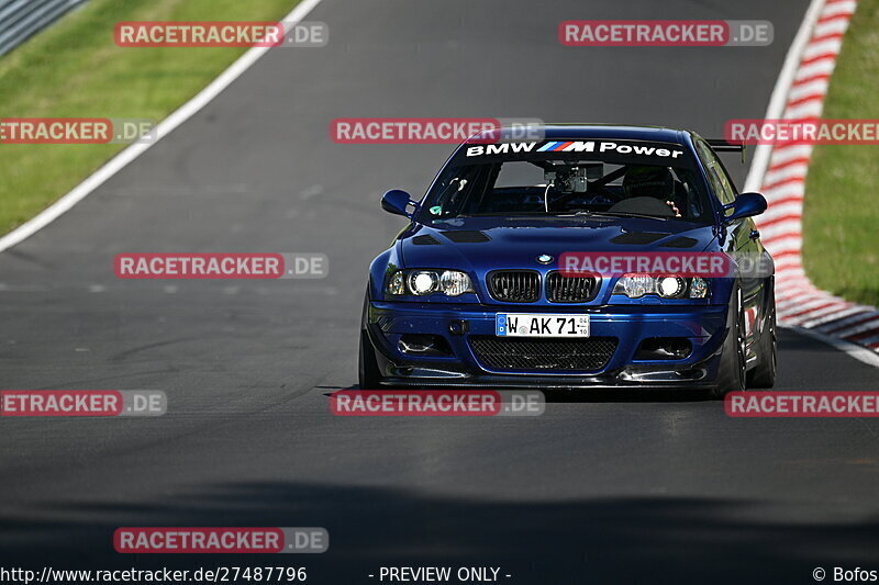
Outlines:
[[[682,145],[544,140],[465,146],[427,193],[419,220],[594,214],[699,222],[709,210]]]

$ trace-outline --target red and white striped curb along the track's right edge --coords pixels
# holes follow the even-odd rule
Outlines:
[[[767,119],[821,117],[843,36],[856,0],[814,0],[788,54]],[[811,145],[759,146],[746,191],[769,202],[757,217],[761,240],[776,261],[781,326],[812,330],[879,351],[879,311],[816,288],[802,265],[802,215]]]

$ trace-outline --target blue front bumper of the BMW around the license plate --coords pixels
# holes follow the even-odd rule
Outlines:
[[[480,359],[474,350],[471,338],[494,336],[497,313],[542,312],[589,314],[590,337],[615,338],[615,350],[602,367],[581,371],[527,368],[498,370],[487,365],[485,358]],[[720,351],[726,335],[726,316],[725,305],[524,307],[374,301],[367,305],[365,326],[376,350],[383,385],[708,389],[716,378]],[[399,346],[401,337],[407,334],[441,336],[448,344],[449,355],[429,357],[407,353]],[[642,341],[657,337],[686,338],[692,349],[682,359],[636,359]]]

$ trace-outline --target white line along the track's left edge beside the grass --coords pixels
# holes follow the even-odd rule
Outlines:
[[[309,12],[316,7],[321,0],[302,0],[297,7],[283,18],[283,24],[292,25],[304,19]],[[287,32],[287,31],[285,31]],[[270,47],[252,47],[244,55],[229,66],[220,76],[208,87],[201,90],[194,98],[186,102],[168,117],[158,123],[154,130],[156,138],[148,143],[135,143],[111,158],[104,166],[94,171],[85,181],[76,185],[69,193],[62,196],[58,201],[43,210],[33,220],[23,223],[9,234],[0,237],[0,252],[20,244],[25,238],[32,236],[44,228],[62,214],[69,211],[74,205],[82,201],[89,193],[103,184],[113,175],[125,168],[125,166],[144,154],[151,146],[159,142],[163,137],[170,134],[177,126],[192,117],[199,110],[208,105],[220,92],[226,89],[235,79],[251,68],[251,66],[265,55]]]

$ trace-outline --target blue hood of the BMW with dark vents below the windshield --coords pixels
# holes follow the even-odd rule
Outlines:
[[[557,268],[564,252],[703,251],[710,225],[634,217],[458,218],[415,225],[400,237],[407,268]]]

